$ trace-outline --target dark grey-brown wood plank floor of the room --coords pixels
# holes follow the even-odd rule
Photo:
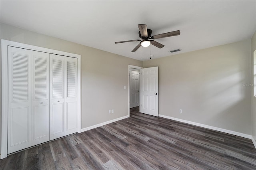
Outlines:
[[[153,117],[130,118],[73,134],[0,160],[1,170],[256,169],[250,139]]]

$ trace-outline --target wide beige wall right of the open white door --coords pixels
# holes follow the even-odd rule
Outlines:
[[[159,114],[251,134],[251,40],[143,62],[159,67]],[[179,113],[182,109],[182,113]]]

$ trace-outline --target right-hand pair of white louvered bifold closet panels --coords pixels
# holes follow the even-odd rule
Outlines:
[[[78,132],[77,59],[50,54],[50,140]]]

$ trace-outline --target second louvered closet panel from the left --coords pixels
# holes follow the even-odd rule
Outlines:
[[[32,146],[50,140],[49,59],[49,53],[32,51]]]

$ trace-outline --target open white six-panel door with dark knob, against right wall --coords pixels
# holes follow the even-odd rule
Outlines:
[[[140,113],[158,116],[158,67],[140,70]]]

